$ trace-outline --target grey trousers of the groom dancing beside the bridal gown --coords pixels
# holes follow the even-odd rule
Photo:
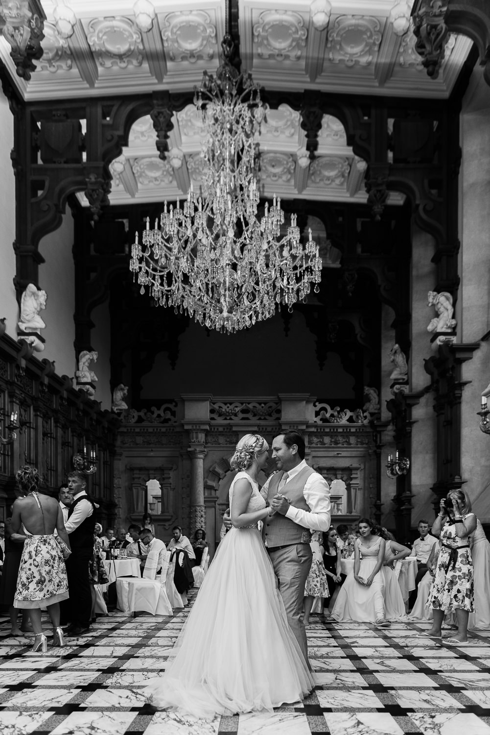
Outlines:
[[[301,620],[306,578],[313,559],[311,547],[309,544],[296,544],[278,551],[270,551],[269,556],[273,563],[275,576],[278,578],[279,592],[281,592],[286,608],[289,628],[295,634],[306,664],[311,668],[308,660],[305,626]]]

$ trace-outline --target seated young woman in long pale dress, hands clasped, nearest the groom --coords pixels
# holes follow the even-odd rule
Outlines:
[[[377,530],[369,518],[359,520],[354,569],[340,588],[332,610],[332,617],[339,623],[356,620],[375,623],[380,628],[389,627],[384,604],[385,578],[381,572],[386,542],[375,534]]]

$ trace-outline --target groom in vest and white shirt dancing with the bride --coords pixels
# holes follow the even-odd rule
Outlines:
[[[264,521],[264,540],[278,578],[287,622],[308,662],[301,614],[312,559],[310,529],[330,528],[330,489],[327,481],[306,464],[305,440],[299,431],[278,434],[272,448],[278,472],[270,476],[261,494],[275,513]],[[223,523],[228,526],[228,513]]]

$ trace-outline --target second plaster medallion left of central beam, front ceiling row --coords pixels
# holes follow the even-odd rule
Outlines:
[[[103,67],[140,66],[143,62],[141,34],[129,18],[93,18],[87,41]]]

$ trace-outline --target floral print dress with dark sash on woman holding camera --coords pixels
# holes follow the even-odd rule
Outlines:
[[[456,609],[473,612],[473,562],[469,540],[456,536],[455,524],[446,521],[441,531],[441,542],[436,572],[425,605],[444,612]]]

